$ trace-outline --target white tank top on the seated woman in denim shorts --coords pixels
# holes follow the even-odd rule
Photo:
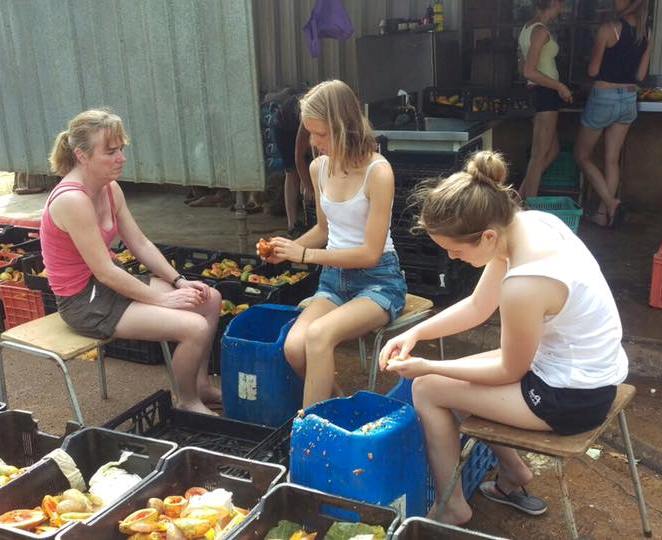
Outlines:
[[[320,206],[326,215],[329,226],[327,249],[353,248],[365,244],[365,227],[370,211],[370,200],[365,195],[365,188],[370,170],[376,163],[388,163],[388,161],[377,159],[370,163],[366,168],[361,187],[356,194],[346,201],[337,202],[330,200],[324,194],[324,184],[329,178],[329,157],[322,156],[317,184],[320,191]],[[384,253],[388,251],[394,251],[390,227],[384,243]]]

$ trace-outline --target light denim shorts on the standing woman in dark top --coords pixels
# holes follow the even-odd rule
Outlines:
[[[637,92],[626,88],[593,88],[582,112],[582,125],[604,129],[631,124],[637,118]]]

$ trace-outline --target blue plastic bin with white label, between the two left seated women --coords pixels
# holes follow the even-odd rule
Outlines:
[[[221,387],[228,418],[280,426],[301,408],[303,381],[283,345],[300,310],[255,305],[237,315],[221,338]]]

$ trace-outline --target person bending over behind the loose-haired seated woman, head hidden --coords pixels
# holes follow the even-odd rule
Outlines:
[[[309,165],[312,159],[310,134],[300,121],[300,96],[289,94],[279,108],[278,122],[274,136],[278,152],[283,158],[285,169],[285,213],[287,231],[290,237],[301,235],[302,225],[298,220],[299,197],[302,194],[304,204],[314,200],[313,185],[310,179]]]

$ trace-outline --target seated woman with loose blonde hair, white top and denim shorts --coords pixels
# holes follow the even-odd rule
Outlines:
[[[323,265],[314,301],[285,341],[285,356],[305,378],[303,405],[331,397],[334,350],[395,319],[406,285],[390,234],[395,190],[389,163],[358,99],[342,81],[326,81],[301,99],[301,119],[320,155],[310,164],[317,224],[296,240],[272,240],[269,262]]]

